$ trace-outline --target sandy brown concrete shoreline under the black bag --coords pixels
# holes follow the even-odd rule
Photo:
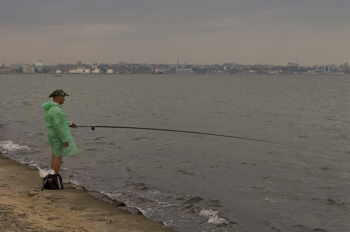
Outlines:
[[[41,187],[38,170],[0,154],[1,231],[176,231],[81,186]]]

